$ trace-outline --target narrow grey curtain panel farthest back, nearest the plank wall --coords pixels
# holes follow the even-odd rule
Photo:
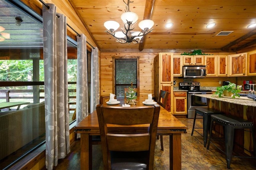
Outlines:
[[[100,84],[99,84],[99,54],[98,48],[92,48],[91,62],[91,109],[90,113],[96,110],[97,104],[100,103]]]

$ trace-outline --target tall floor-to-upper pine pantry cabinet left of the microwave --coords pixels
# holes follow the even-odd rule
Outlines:
[[[154,58],[154,97],[160,90],[169,92],[166,110],[173,113],[173,53],[159,53]]]

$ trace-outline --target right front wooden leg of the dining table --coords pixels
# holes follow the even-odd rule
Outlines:
[[[181,170],[181,134],[170,135],[170,170]]]

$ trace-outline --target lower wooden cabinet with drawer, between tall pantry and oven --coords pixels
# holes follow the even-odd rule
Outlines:
[[[187,114],[187,93],[174,92],[174,112],[173,114]]]

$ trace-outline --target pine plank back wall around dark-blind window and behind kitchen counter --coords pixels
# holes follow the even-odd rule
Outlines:
[[[109,95],[113,93],[112,80],[112,57],[114,56],[140,56],[140,97],[147,97],[148,94],[154,94],[154,57],[157,53],[128,53],[128,52],[101,52],[100,53],[100,95]],[[176,85],[183,82],[183,78],[174,77]],[[253,80],[256,82],[256,76],[244,77],[207,77],[195,78],[194,82],[200,82],[201,86],[222,86],[219,81],[230,81],[242,85],[244,80]]]

